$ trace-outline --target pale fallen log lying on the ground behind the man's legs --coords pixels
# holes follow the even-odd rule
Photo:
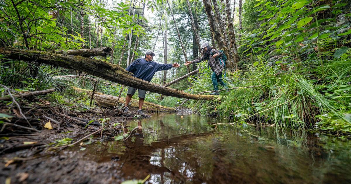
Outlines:
[[[76,88],[76,87],[72,87],[72,88],[78,92],[85,92],[87,95],[92,94],[92,91],[89,91],[86,89],[81,89],[81,88]],[[102,106],[102,107],[117,107],[118,104],[125,104],[125,102],[126,102],[126,99],[123,97],[120,97],[118,100],[117,96],[106,95],[103,93],[95,93],[94,99],[98,103],[98,105]],[[117,103],[117,101],[118,101],[118,103]],[[132,101],[128,106],[131,108],[138,109],[139,102]],[[146,101],[144,101],[143,110],[147,111],[147,112],[174,112],[174,111],[176,111],[175,108],[165,107],[165,106],[161,106],[159,104],[154,104],[154,103],[146,102]]]

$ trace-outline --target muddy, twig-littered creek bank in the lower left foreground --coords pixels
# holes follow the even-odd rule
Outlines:
[[[99,107],[89,111],[67,110],[52,102],[31,99],[16,106],[1,104],[5,117],[0,132],[0,181],[4,183],[120,183],[114,160],[101,162],[87,158],[84,146],[96,141],[116,139],[123,134],[128,119],[141,118],[134,112],[123,113]],[[14,108],[13,108],[14,107]],[[104,131],[101,122],[104,119]],[[32,131],[23,127],[38,130]],[[31,125],[29,125],[31,124]],[[128,137],[122,137],[123,140]],[[98,150],[97,150],[98,151]],[[118,160],[118,158],[113,158]],[[6,182],[5,182],[6,181]],[[1,183],[2,183],[1,182]]]

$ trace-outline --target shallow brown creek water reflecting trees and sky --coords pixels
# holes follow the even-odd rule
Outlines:
[[[351,141],[197,115],[153,114],[127,122],[126,142],[86,148],[98,162],[117,161],[123,179],[146,183],[351,183]],[[181,117],[183,116],[183,117]]]

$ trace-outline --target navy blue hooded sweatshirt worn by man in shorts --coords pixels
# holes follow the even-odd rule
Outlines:
[[[157,71],[169,70],[172,67],[172,64],[160,64],[154,61],[146,61],[144,58],[138,58],[126,70],[132,72],[134,77],[150,82]]]

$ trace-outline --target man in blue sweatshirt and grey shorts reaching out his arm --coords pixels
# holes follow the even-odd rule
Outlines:
[[[155,75],[157,71],[161,70],[169,70],[172,67],[179,67],[178,63],[173,64],[160,64],[152,61],[152,57],[155,56],[154,53],[148,51],[145,53],[145,58],[138,58],[132,64],[127,67],[127,71],[132,72],[134,77],[140,78],[144,81],[150,82],[152,77]],[[132,96],[134,95],[137,88],[128,88],[126,104],[124,106],[124,112],[127,112],[129,108],[127,107],[128,103],[131,101]],[[139,92],[139,110],[137,111],[139,114],[146,115],[141,110],[143,107],[144,99],[145,99],[145,90],[138,89]]]

